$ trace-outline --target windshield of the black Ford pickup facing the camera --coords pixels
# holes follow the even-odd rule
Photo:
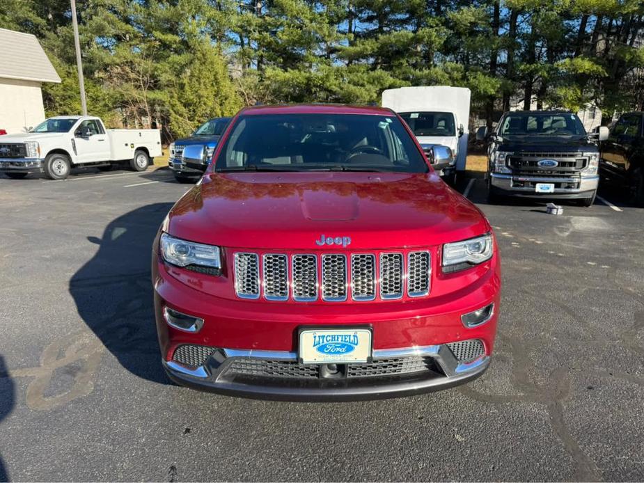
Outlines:
[[[570,113],[516,113],[503,119],[501,136],[586,136],[581,121]]]

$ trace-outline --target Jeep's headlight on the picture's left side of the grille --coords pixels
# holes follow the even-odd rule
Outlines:
[[[161,254],[164,260],[177,267],[184,267],[203,274],[221,275],[221,253],[219,246],[188,242],[161,235]]]

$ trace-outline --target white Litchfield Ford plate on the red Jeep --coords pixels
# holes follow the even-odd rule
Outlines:
[[[368,328],[310,329],[299,333],[303,364],[366,363],[371,356]]]

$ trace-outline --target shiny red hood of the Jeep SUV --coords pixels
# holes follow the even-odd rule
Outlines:
[[[313,250],[321,235],[351,237],[356,250],[455,242],[489,224],[434,173],[216,173],[175,204],[164,230],[239,248]]]

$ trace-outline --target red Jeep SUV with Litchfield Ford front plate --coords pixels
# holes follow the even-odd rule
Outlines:
[[[492,228],[389,109],[243,109],[152,252],[176,383],[338,401],[449,388],[494,346]]]

